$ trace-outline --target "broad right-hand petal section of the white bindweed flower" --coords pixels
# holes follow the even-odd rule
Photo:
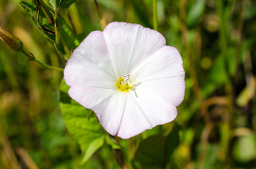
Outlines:
[[[156,97],[180,105],[185,94],[182,58],[174,47],[164,46],[131,73],[136,89],[145,89]]]

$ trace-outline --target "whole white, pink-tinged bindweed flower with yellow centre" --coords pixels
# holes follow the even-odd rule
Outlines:
[[[69,96],[123,139],[169,123],[184,98],[182,58],[159,32],[110,23],[91,32],[64,69]]]

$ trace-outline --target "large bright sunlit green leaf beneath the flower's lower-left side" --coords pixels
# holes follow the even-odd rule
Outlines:
[[[90,120],[87,118],[87,109],[70,99],[69,87],[62,80],[60,87],[60,106],[67,129],[76,142],[81,146],[83,158],[81,163],[88,159],[104,144],[105,132],[98,123],[95,115]]]

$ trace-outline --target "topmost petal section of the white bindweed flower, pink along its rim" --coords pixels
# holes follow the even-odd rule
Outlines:
[[[132,23],[110,23],[103,34],[119,75],[127,75],[166,43],[159,32]]]

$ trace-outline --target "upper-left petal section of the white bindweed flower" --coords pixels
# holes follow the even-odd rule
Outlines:
[[[70,87],[77,84],[114,84],[115,73],[103,32],[91,32],[74,50],[64,69]]]

